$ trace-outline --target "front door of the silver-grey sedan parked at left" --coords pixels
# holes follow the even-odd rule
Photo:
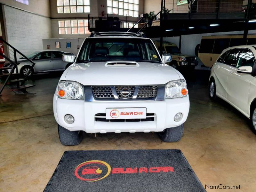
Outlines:
[[[50,51],[41,52],[34,59],[35,72],[51,71],[53,69],[52,53]]]

